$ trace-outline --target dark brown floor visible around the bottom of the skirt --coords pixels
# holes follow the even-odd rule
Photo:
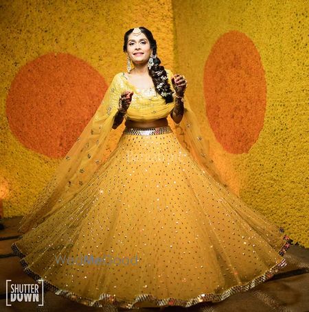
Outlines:
[[[17,302],[13,303],[12,307],[6,307],[5,280],[12,280],[12,283],[34,283],[34,280],[23,272],[19,257],[14,256],[11,250],[12,243],[19,236],[16,229],[20,219],[20,217],[4,219],[2,223],[5,228],[0,230],[0,311],[117,311],[114,307],[106,309],[86,307],[56,296],[51,291],[45,293],[43,307],[30,302]],[[238,293],[216,304],[201,303],[187,309],[168,307],[164,311],[309,311],[309,250],[293,245],[286,254],[286,260],[288,265],[281,272],[251,291]],[[159,311],[159,308],[128,311]]]

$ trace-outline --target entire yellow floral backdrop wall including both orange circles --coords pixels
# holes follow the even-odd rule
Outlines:
[[[124,32],[144,26],[162,64],[187,77],[234,191],[309,246],[306,1],[14,0],[1,1],[0,14],[5,217],[27,212],[115,73],[126,71]]]

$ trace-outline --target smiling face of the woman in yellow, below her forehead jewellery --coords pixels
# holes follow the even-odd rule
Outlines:
[[[133,64],[144,64],[150,58],[150,43],[145,34],[141,32],[138,36],[130,34],[126,45],[126,53],[132,60]]]

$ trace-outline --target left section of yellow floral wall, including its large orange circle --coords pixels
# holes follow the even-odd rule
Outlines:
[[[126,71],[124,33],[150,29],[172,68],[174,28],[165,0],[10,0],[0,14],[0,199],[13,217],[27,212],[113,76]]]

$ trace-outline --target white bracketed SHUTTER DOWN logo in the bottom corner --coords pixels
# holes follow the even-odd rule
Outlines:
[[[9,285],[8,282],[12,282],[12,280],[6,280],[6,298],[5,298],[5,305],[7,307],[12,306],[12,302],[40,302],[40,297],[38,296],[40,285],[38,284],[14,284],[11,283]],[[38,280],[41,282],[41,293],[42,293],[42,300],[38,306],[44,305],[44,285],[43,280]],[[10,295],[10,296],[9,296]]]

